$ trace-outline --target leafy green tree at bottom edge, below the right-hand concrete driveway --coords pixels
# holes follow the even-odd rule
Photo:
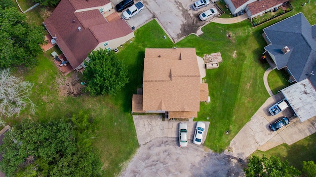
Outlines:
[[[271,156],[270,159],[265,155],[260,158],[253,155],[249,159],[247,168],[243,169],[247,177],[299,177],[301,172],[289,166],[288,161],[281,161],[276,156]]]

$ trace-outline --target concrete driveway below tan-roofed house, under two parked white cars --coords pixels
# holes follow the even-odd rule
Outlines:
[[[134,125],[136,129],[137,139],[139,144],[146,144],[155,138],[178,138],[179,123],[182,121],[164,119],[158,115],[133,115]],[[188,125],[188,139],[193,142],[196,122],[193,119],[185,121]],[[209,122],[205,123],[205,132],[202,143],[205,142]],[[179,145],[179,144],[178,144]]]

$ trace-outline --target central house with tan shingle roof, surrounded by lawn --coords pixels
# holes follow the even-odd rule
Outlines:
[[[133,95],[132,112],[193,118],[207,100],[208,85],[201,83],[195,48],[146,48],[143,90]]]

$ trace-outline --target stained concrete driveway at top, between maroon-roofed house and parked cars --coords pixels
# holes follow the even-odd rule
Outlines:
[[[111,0],[113,6],[120,0]],[[138,0],[135,0],[137,2]],[[141,0],[145,9],[129,20],[131,28],[138,29],[145,23],[155,18],[164,32],[176,43],[182,38],[196,34],[200,27],[209,23],[213,18],[201,21],[198,15],[207,9],[213,8],[213,2],[207,7],[194,10],[192,4],[196,0]],[[121,16],[121,13],[119,13]],[[161,36],[162,37],[162,36]]]

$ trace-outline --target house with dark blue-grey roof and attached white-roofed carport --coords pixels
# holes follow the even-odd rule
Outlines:
[[[316,116],[316,25],[311,26],[301,12],[263,31],[273,69],[285,69],[297,82],[281,90],[284,97],[300,121]]]

